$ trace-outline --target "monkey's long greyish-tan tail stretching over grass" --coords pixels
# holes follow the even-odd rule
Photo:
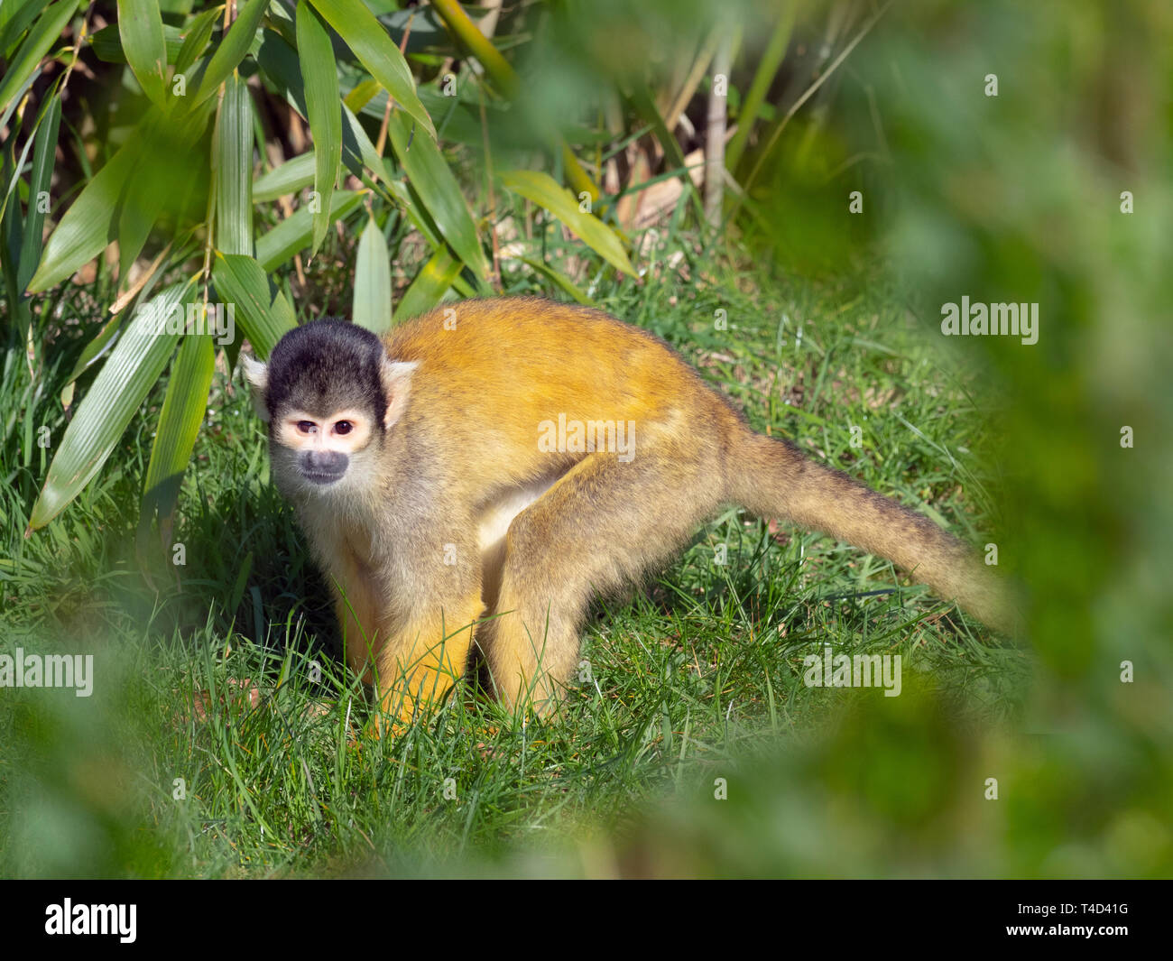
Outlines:
[[[1006,634],[1021,630],[1005,586],[969,547],[928,517],[808,460],[785,440],[746,431],[727,462],[727,494],[734,503],[887,557],[989,627]]]

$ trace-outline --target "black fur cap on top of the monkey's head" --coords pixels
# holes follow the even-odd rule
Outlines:
[[[280,411],[297,407],[327,417],[341,407],[359,407],[381,426],[385,359],[382,341],[348,320],[323,318],[294,327],[269,357],[269,414],[276,420]]]

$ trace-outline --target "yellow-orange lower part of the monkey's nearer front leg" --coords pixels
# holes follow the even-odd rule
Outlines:
[[[436,540],[401,556],[380,622],[375,684],[382,713],[408,723],[465,674],[483,604],[473,544]]]

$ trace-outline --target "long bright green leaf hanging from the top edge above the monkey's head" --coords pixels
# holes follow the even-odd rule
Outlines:
[[[313,242],[310,245],[312,258],[330,226],[330,203],[343,158],[343,111],[330,31],[321,15],[306,0],[298,0],[297,5],[297,48],[305,84],[310,133],[313,135],[313,189],[319,199],[318,212],[313,218]]]

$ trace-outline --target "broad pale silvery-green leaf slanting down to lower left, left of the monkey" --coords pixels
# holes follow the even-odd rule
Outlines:
[[[33,505],[29,529],[52,521],[102,468],[171,358],[181,329],[175,314],[178,311],[182,316],[191,293],[190,283],[176,284],[127,323],[66,428]]]

